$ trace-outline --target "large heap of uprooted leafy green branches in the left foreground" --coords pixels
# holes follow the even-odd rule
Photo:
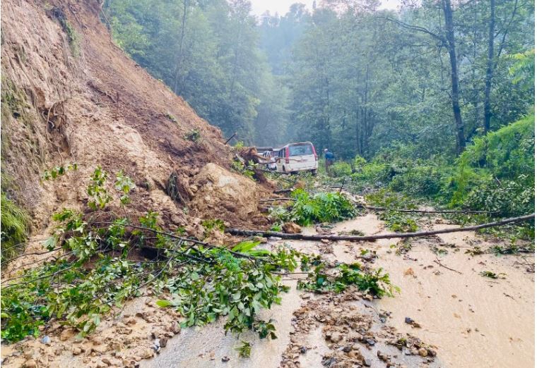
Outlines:
[[[261,309],[281,300],[286,290],[280,274],[314,269],[306,290],[341,292],[354,285],[372,295],[391,295],[393,286],[382,271],[358,264],[338,266],[324,275],[324,264],[292,249],[257,250],[258,242],[232,249],[188,238],[184,228],[165,231],[158,213],[129,216],[132,180],[119,171],[110,176],[95,169],[87,188],[87,208],[63,209],[52,216],[57,224],[43,243],[44,262],[11,273],[2,285],[2,338],[18,341],[38,336],[39,326],[59,321],[81,335],[91,333],[103,315],[140,295],[145,288],[165,296],[161,307],[176,307],[184,326],[199,326],[227,317],[225,329],[252,329],[261,338],[275,336],[270,321],[258,319]],[[124,214],[124,215],[121,215]],[[205,221],[209,231],[221,221]],[[50,260],[52,259],[52,260]],[[6,262],[8,259],[6,260]],[[323,271],[323,272],[321,272]]]

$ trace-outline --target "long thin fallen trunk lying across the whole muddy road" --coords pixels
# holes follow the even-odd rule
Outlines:
[[[382,235],[366,235],[366,236],[352,236],[352,235],[305,235],[305,234],[288,234],[288,233],[279,233],[277,231],[257,231],[257,230],[242,230],[239,228],[226,228],[225,232],[230,233],[231,235],[246,235],[246,236],[256,236],[261,235],[265,238],[270,236],[282,238],[282,239],[293,239],[293,240],[348,240],[354,242],[360,241],[369,241],[377,239],[391,239],[391,238],[420,238],[436,234],[445,234],[445,233],[457,233],[460,231],[474,231],[479,230],[480,228],[492,228],[495,226],[502,226],[507,223],[517,223],[522,221],[527,221],[530,219],[535,219],[535,214],[529,214],[520,217],[512,217],[510,219],[504,219],[501,221],[482,223],[475,226],[466,226],[464,228],[445,228],[442,230],[434,231],[419,231],[417,233],[391,233],[391,234],[382,234]]]

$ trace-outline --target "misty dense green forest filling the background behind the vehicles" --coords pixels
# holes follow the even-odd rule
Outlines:
[[[533,73],[512,70],[533,49],[531,1],[378,5],[294,4],[257,19],[246,0],[108,0],[106,9],[138,63],[257,145],[312,140],[343,159],[403,145],[415,157],[454,157],[528,114]]]

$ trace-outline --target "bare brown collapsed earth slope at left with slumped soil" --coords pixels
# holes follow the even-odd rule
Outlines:
[[[2,173],[33,233],[83,203],[96,166],[133,178],[134,209],[166,223],[208,211],[232,225],[256,221],[262,188],[229,171],[218,128],[112,43],[99,1],[6,0],[1,11]],[[77,171],[41,183],[73,162]]]

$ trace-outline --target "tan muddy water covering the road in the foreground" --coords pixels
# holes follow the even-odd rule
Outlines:
[[[430,223],[430,228],[454,227]],[[336,224],[333,233],[362,231],[366,235],[387,233],[374,214]],[[305,233],[315,233],[305,228]],[[349,302],[357,313],[370,316],[371,331],[396,331],[419,338],[435,346],[435,360],[403,354],[382,338],[372,347],[360,347],[360,353],[371,367],[386,367],[382,354],[400,367],[534,367],[534,274],[525,264],[533,263],[533,255],[522,256],[478,254],[466,250],[491,246],[473,232],[447,233],[433,239],[411,240],[410,246],[398,251],[399,239],[374,243],[314,243],[270,240],[266,247],[286,244],[297,250],[322,254],[329,261],[370,262],[385,269],[391,281],[401,288],[394,298]],[[364,259],[365,250],[376,252],[376,258]],[[491,279],[481,271],[502,274]],[[183,329],[172,338],[160,355],[141,362],[141,367],[280,367],[283,355],[300,367],[326,367],[331,354],[326,341],[326,327],[312,325],[307,332],[295,333],[297,321],[293,314],[314,298],[296,290],[296,281],[286,281],[291,289],[281,305],[264,311],[264,319],[275,322],[278,339],[259,340],[254,333],[240,338],[225,335],[223,321],[201,329]],[[321,299],[319,299],[321,300]],[[326,303],[325,303],[326,304]],[[335,303],[337,304],[337,303]],[[379,316],[388,315],[379,321]],[[405,322],[411,317],[418,326]],[[323,329],[324,328],[324,329]],[[383,336],[382,333],[379,336]],[[238,357],[235,348],[241,341],[252,343],[249,358]],[[293,345],[304,345],[304,354],[293,356]],[[333,346],[333,345],[332,345]],[[306,350],[306,349],[304,349]],[[340,348],[341,350],[341,348]],[[290,353],[291,351],[291,353]],[[327,363],[328,362],[328,363]]]

